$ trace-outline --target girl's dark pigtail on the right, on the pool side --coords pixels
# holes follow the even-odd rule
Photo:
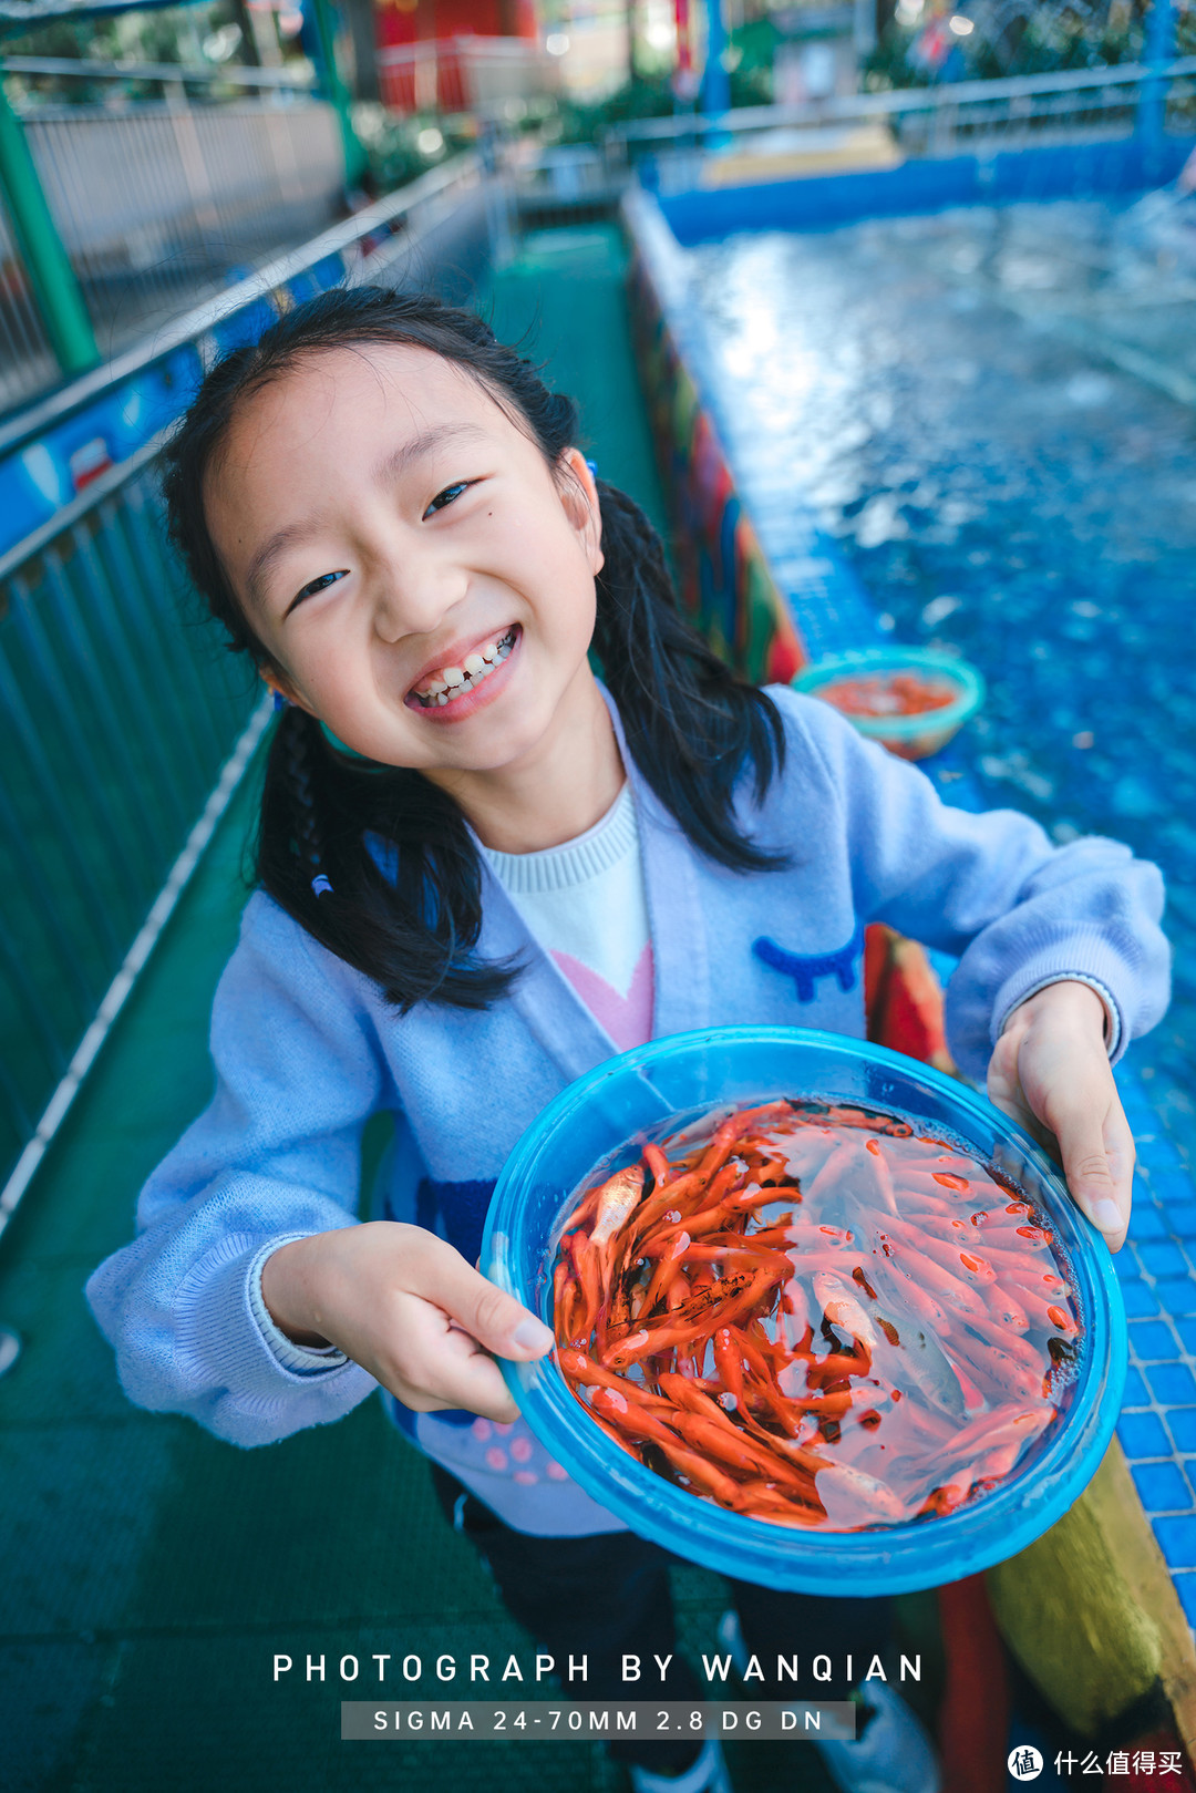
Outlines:
[[[746,767],[755,801],[784,766],[771,697],[735,678],[681,615],[660,536],[638,504],[599,481],[602,554],[594,645],[619,705],[628,748],[694,846],[733,871],[785,861],[742,834],[735,785]]]

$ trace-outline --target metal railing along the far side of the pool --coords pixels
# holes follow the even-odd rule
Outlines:
[[[1158,129],[1196,129],[1196,57],[640,118],[613,126],[602,154],[611,172],[651,156],[672,190],[694,181],[699,156],[710,149],[800,152],[803,142],[818,147],[814,133],[828,143],[836,131],[871,126],[891,133],[907,156],[949,156],[1020,149],[1053,136],[1126,136],[1151,106]]]

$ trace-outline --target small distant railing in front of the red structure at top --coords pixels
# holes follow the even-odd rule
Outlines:
[[[559,63],[525,38],[436,38],[378,50],[382,104],[396,113],[500,113],[559,88]]]

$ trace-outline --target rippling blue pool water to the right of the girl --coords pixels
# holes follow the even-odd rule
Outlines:
[[[1166,201],[760,233],[690,251],[719,409],[793,481],[897,638],[990,687],[941,769],[1058,841],[1155,859],[1169,1018],[1135,1049],[1196,1148],[1196,256]],[[1130,373],[1126,366],[1139,371]],[[1166,1090],[1166,1096],[1164,1096]]]

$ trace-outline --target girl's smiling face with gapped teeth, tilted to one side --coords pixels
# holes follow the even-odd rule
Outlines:
[[[273,681],[368,758],[515,769],[597,697],[590,470],[429,350],[325,350],[260,387],[204,507]]]

